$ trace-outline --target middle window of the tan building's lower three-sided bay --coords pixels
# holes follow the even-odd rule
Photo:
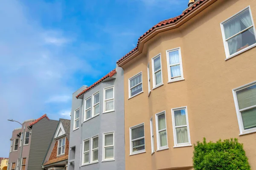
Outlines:
[[[167,129],[166,129],[166,114],[165,111],[156,114],[156,129],[157,129],[157,150],[167,149]]]

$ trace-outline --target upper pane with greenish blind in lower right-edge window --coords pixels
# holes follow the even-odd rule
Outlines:
[[[256,105],[256,85],[236,92],[239,109]]]

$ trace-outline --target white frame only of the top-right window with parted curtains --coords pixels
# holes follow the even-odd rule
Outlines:
[[[253,25],[250,26],[250,27],[248,27],[248,28],[246,28],[246,29],[244,29],[244,30],[242,30],[242,31],[240,31],[239,33],[237,33],[237,34],[231,36],[230,38],[226,39],[226,37],[225,37],[225,32],[224,32],[224,24],[227,23],[228,21],[234,19],[234,18],[237,17],[239,14],[241,14],[241,13],[243,13],[244,11],[247,11],[247,10],[249,10],[249,12],[250,12],[250,17],[251,17],[251,20],[252,20],[252,24],[253,24]],[[229,17],[227,20],[225,20],[225,21],[223,21],[223,22],[221,23],[221,32],[222,32],[222,38],[223,38],[224,48],[225,48],[225,54],[226,54],[226,59],[225,59],[225,60],[230,59],[230,58],[232,58],[232,57],[235,57],[236,55],[241,54],[242,52],[247,51],[247,50],[249,50],[250,48],[253,48],[253,47],[256,46],[256,43],[254,43],[253,45],[250,45],[249,47],[244,48],[244,49],[242,49],[242,50],[240,50],[240,51],[237,51],[236,53],[230,55],[229,48],[228,48],[228,44],[227,44],[227,40],[230,40],[231,38],[235,37],[235,36],[238,35],[238,34],[242,34],[243,32],[247,31],[248,29],[250,29],[250,28],[252,28],[252,27],[253,27],[254,36],[255,36],[255,39],[256,39],[256,30],[255,30],[255,26],[254,26],[254,22],[253,22],[253,15],[252,15],[250,6],[247,6],[247,7],[244,8],[243,10],[239,11],[238,13],[234,14],[232,17]]]

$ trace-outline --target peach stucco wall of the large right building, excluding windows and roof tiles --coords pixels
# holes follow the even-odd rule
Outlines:
[[[193,147],[174,148],[172,108],[187,106],[191,143],[238,138],[244,144],[252,169],[256,169],[256,133],[239,136],[232,89],[256,80],[256,48],[225,61],[220,23],[249,6],[256,23],[255,0],[218,0],[175,30],[157,34],[145,43],[143,53],[123,66],[125,80],[126,170],[164,170],[192,167]],[[166,50],[181,48],[183,81],[168,82]],[[147,65],[161,53],[163,86],[148,97]],[[143,72],[143,93],[128,99],[128,79]],[[152,69],[151,71],[151,88]],[[151,155],[150,118],[154,122],[154,150],[157,150],[155,114],[166,111],[168,150]],[[129,127],[144,122],[145,150],[130,154]]]

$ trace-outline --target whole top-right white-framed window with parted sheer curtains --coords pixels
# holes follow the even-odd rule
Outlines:
[[[226,58],[256,46],[256,31],[250,6],[221,23]]]

